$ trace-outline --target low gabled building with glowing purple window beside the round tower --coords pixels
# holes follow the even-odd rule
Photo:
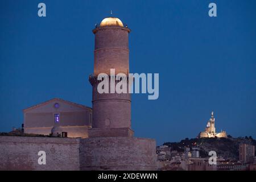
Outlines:
[[[23,110],[24,133],[88,138],[92,109],[54,98]]]

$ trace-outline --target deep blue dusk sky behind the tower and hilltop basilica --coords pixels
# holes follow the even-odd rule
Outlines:
[[[0,131],[19,127],[22,109],[55,97],[92,106],[92,29],[110,10],[132,30],[130,72],[159,73],[158,100],[133,94],[136,137],[195,138],[214,110],[217,131],[256,138],[254,0],[1,0]]]

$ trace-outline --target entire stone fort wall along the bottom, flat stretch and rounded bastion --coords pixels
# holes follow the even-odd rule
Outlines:
[[[154,139],[0,136],[0,149],[0,170],[156,170]]]

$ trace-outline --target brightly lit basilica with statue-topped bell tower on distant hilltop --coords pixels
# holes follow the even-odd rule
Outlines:
[[[215,129],[215,118],[212,111],[212,116],[207,123],[207,127],[205,131],[201,131],[197,138],[227,138],[226,131],[221,131],[220,133],[216,133]]]

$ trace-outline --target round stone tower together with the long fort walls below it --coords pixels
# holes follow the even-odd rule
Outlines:
[[[97,92],[97,75],[129,74],[128,35],[118,18],[106,18],[95,34],[93,123],[89,138],[1,137],[2,170],[156,170],[154,139],[135,138],[131,130],[129,93]],[[38,164],[38,152],[46,152],[46,164]]]

